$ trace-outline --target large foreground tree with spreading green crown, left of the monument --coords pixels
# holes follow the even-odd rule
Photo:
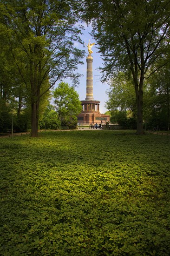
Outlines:
[[[33,137],[43,94],[60,79],[78,79],[74,71],[83,51],[74,47],[80,42],[75,5],[73,0],[1,0],[0,22],[30,98]]]

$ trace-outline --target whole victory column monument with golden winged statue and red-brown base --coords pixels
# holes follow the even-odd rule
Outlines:
[[[85,44],[86,45],[86,44]],[[78,123],[90,125],[105,123],[110,121],[110,115],[100,114],[99,105],[100,101],[95,101],[93,98],[93,69],[92,69],[92,46],[94,43],[89,43],[86,45],[88,47],[89,54],[86,58],[87,62],[87,72],[86,72],[86,98],[81,101],[82,112],[78,115]]]

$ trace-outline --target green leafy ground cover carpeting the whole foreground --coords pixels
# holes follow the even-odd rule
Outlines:
[[[0,139],[0,181],[0,255],[170,255],[170,136]]]

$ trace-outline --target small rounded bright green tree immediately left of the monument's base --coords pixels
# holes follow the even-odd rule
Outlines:
[[[77,123],[77,115],[81,112],[82,106],[74,87],[61,82],[53,91],[53,97],[58,119],[67,123],[71,120]]]

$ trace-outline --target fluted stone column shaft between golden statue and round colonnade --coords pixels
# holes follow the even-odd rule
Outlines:
[[[86,101],[93,101],[93,69],[92,69],[92,62],[93,57],[92,55],[88,55],[86,58],[87,62],[87,77],[86,77]]]

